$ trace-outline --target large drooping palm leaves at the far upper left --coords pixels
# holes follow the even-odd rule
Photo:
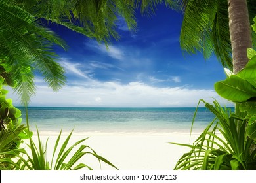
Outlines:
[[[65,83],[64,69],[54,61],[53,43],[64,41],[39,24],[26,10],[0,2],[0,61],[14,83],[14,90],[27,105],[35,94],[33,71],[45,77],[49,87],[58,90]]]

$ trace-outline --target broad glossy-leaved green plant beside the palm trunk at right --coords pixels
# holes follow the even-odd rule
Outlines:
[[[217,82],[215,90],[221,97],[238,103],[241,112],[246,112],[247,135],[256,140],[256,51],[248,48],[247,55],[249,62],[244,69],[236,75],[226,70],[228,78]]]

